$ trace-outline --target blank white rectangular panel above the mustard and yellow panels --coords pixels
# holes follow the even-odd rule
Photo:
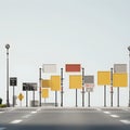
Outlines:
[[[56,64],[43,64],[43,73],[56,73]]]

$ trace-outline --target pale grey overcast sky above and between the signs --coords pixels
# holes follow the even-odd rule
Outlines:
[[[86,75],[95,79],[98,70],[128,63],[129,5],[129,0],[0,0],[0,96],[5,100],[5,43],[11,44],[10,76],[18,78],[16,94],[22,82],[38,82],[43,63],[58,67],[81,63]],[[11,96],[12,88],[10,91]],[[122,105],[128,104],[127,91],[120,92]],[[92,105],[102,104],[102,92],[95,80]],[[74,93],[65,91],[66,102],[72,99],[66,105],[75,105]],[[101,100],[94,103],[99,94]],[[51,98],[49,101],[53,102]]]

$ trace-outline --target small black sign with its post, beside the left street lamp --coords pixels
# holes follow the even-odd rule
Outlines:
[[[14,96],[14,94],[15,94],[15,89],[14,89],[14,87],[16,87],[17,86],[17,78],[16,77],[11,77],[10,78],[10,86],[12,86],[13,87],[13,107],[14,107],[14,105],[15,105],[15,96]]]

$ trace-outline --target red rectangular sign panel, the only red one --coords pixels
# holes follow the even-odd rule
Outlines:
[[[65,72],[67,73],[78,73],[81,70],[80,64],[66,64],[65,65]]]

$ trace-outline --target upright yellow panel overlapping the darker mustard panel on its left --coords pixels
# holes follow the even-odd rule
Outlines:
[[[61,91],[61,76],[51,76],[51,90]]]

